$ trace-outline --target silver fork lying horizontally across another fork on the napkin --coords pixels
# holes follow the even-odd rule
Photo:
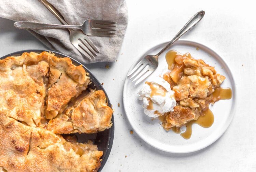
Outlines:
[[[108,36],[114,35],[111,31],[115,31],[116,24],[113,21],[106,20],[95,20],[88,19],[85,20],[82,25],[57,25],[57,24],[47,24],[37,21],[17,21],[14,26],[19,29],[80,29],[84,34],[88,36]]]

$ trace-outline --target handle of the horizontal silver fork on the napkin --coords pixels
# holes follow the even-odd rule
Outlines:
[[[19,29],[81,29],[75,25],[47,24],[36,21],[17,21],[14,26]]]

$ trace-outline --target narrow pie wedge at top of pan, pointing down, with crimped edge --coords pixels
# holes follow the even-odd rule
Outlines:
[[[90,82],[82,66],[72,64],[70,58],[50,59],[50,78],[45,117],[53,119],[62,113],[68,102],[80,95]]]

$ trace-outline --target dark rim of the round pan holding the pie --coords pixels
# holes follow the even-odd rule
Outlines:
[[[86,68],[83,63],[77,61],[76,59],[70,57],[70,56],[67,56],[65,54],[62,54],[62,53],[59,53],[59,52],[56,52],[56,51],[52,51],[52,50],[46,50],[46,49],[25,49],[25,50],[20,50],[20,51],[16,51],[16,52],[13,52],[13,53],[10,53],[10,54],[7,54],[7,55],[4,55],[2,57],[0,57],[0,59],[5,59],[6,57],[9,57],[9,56],[17,56],[17,54],[22,54],[22,53],[30,53],[30,52],[35,52],[35,53],[42,53],[42,52],[51,52],[51,53],[54,53],[55,55],[58,55],[60,57],[68,57],[70,58],[72,61],[75,61],[76,63],[82,65],[82,67],[85,69],[86,72],[89,73],[89,77],[91,79],[93,79],[94,81],[94,84],[97,84],[97,86],[99,86],[101,88],[101,90],[104,91],[105,95],[106,95],[106,99],[108,101],[108,105],[111,107],[111,102],[109,100],[109,97],[108,97],[108,94],[106,93],[105,89],[103,88],[103,86],[101,85],[101,83],[99,82],[99,80],[97,79],[97,77],[88,69]],[[102,161],[101,161],[101,166],[98,170],[98,172],[100,172],[105,163],[107,162],[108,158],[109,158],[109,155],[111,153],[111,149],[112,149],[112,146],[113,146],[113,141],[114,141],[114,132],[115,132],[115,124],[114,124],[114,112],[112,114],[112,118],[111,118],[111,122],[112,122],[112,127],[109,129],[109,135],[110,137],[108,138],[108,143],[107,143],[107,147],[106,147],[106,151],[105,151],[105,154],[103,154],[103,158]]]

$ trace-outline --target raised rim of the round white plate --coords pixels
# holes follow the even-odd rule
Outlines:
[[[227,70],[229,71],[229,74],[230,74],[230,76],[231,76],[231,78],[230,78],[231,84],[233,83],[233,85],[232,85],[232,87],[233,87],[233,88],[232,88],[233,103],[232,103],[232,105],[231,105],[231,110],[230,110],[230,112],[229,112],[230,118],[228,118],[227,121],[225,122],[225,125],[223,125],[223,127],[222,127],[223,129],[221,130],[221,132],[219,132],[209,143],[204,144],[204,145],[201,146],[201,147],[198,147],[198,148],[195,148],[195,149],[191,149],[191,150],[187,150],[187,151],[179,151],[179,152],[177,152],[177,151],[173,151],[173,150],[163,149],[163,148],[161,148],[161,147],[155,146],[154,144],[148,142],[147,139],[145,139],[146,137],[144,137],[143,134],[141,134],[140,132],[138,132],[138,131],[136,130],[136,127],[134,127],[133,124],[131,123],[131,119],[130,119],[129,115],[127,115],[128,113],[127,113],[127,110],[126,110],[126,105],[125,105],[125,102],[126,102],[126,101],[125,101],[124,95],[125,95],[125,91],[127,90],[127,88],[126,88],[127,82],[129,82],[129,80],[127,79],[128,73],[131,71],[131,68],[132,68],[133,66],[135,66],[135,64],[137,64],[137,63],[139,62],[139,60],[141,60],[141,58],[142,58],[147,52],[149,52],[149,51],[150,51],[151,49],[153,49],[153,48],[156,48],[156,47],[159,47],[159,46],[162,46],[162,45],[163,45],[163,47],[164,47],[164,45],[168,44],[169,42],[163,42],[163,43],[159,43],[159,44],[157,44],[157,45],[155,45],[155,46],[152,46],[151,48],[148,48],[141,56],[139,56],[140,58],[139,58],[138,60],[136,60],[134,63],[132,63],[131,67],[129,68],[129,70],[128,70],[128,72],[127,72],[127,75],[126,75],[126,78],[125,78],[124,86],[123,86],[123,104],[124,104],[124,110],[125,110],[126,117],[127,117],[128,121],[129,121],[129,123],[130,123],[132,129],[133,129],[133,130],[139,135],[139,137],[140,137],[143,141],[145,141],[147,144],[149,144],[149,145],[155,147],[156,149],[162,150],[162,151],[164,151],[164,152],[176,153],[176,154],[185,154],[185,153],[196,152],[196,151],[201,150],[201,149],[203,149],[203,148],[205,148],[205,147],[208,147],[208,146],[210,146],[211,144],[213,144],[214,142],[216,142],[216,141],[226,132],[227,128],[230,126],[230,124],[231,124],[231,122],[232,122],[232,120],[233,120],[233,118],[234,118],[234,109],[235,109],[234,107],[236,107],[236,103],[237,103],[237,100],[236,100],[236,99],[237,99],[237,96],[236,96],[236,82],[235,82],[235,80],[234,80],[234,76],[233,76],[233,74],[232,74],[232,72],[231,72],[229,66],[227,65],[226,61],[225,61],[218,53],[216,53],[212,48],[210,48],[209,46],[207,46],[207,45],[205,45],[205,44],[201,44],[201,43],[196,42],[196,41],[193,41],[193,40],[189,40],[189,39],[179,39],[179,40],[177,40],[173,45],[179,44],[179,43],[180,43],[180,44],[184,44],[184,43],[182,43],[182,42],[184,42],[184,43],[186,43],[186,44],[199,45],[200,47],[204,47],[205,49],[208,49],[208,51],[210,51],[211,53],[215,54],[215,55],[221,60],[221,62],[223,62],[224,65],[227,67]]]

